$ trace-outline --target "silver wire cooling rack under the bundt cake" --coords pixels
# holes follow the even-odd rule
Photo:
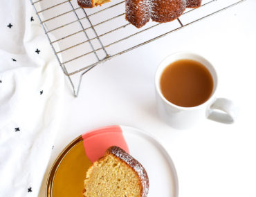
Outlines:
[[[30,1],[77,96],[82,77],[94,66],[246,0],[203,0],[200,8],[185,10],[175,21],[150,21],[139,29],[125,20],[123,0],[86,9],[77,0]]]

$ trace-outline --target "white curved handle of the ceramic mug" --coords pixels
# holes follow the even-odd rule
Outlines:
[[[216,122],[232,124],[237,118],[237,107],[231,100],[217,98],[206,111],[206,117]]]

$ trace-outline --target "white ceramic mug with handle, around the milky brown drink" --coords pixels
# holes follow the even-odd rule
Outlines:
[[[163,93],[161,92],[160,80],[163,71],[167,66],[172,64],[172,62],[176,62],[179,59],[192,59],[200,62],[201,64],[203,64],[203,66],[208,68],[208,71],[210,71],[210,74],[212,75],[212,79],[214,82],[212,95],[206,102],[200,104],[199,106],[177,106],[176,104],[172,104],[171,102],[166,100],[163,96]],[[180,52],[174,53],[166,57],[157,68],[155,84],[156,104],[158,107],[158,112],[161,118],[163,118],[163,120],[165,120],[167,124],[176,129],[188,129],[191,126],[198,124],[200,120],[205,117],[210,120],[226,124],[231,124],[235,120],[237,110],[235,109],[234,104],[232,103],[232,101],[226,98],[215,97],[215,92],[218,84],[217,73],[212,64],[210,64],[207,59],[201,57],[200,55]]]

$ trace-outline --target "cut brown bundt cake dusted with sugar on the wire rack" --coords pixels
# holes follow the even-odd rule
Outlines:
[[[82,8],[93,8],[110,0],[77,0]],[[173,21],[180,17],[185,8],[198,8],[201,0],[125,0],[125,18],[137,28],[149,19],[159,23]]]

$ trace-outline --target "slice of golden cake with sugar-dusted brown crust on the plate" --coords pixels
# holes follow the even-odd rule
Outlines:
[[[84,180],[85,197],[146,197],[148,191],[144,167],[119,147],[110,147],[93,162]]]

